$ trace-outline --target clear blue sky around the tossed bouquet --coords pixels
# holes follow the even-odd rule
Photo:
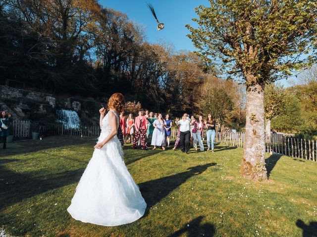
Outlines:
[[[208,0],[100,0],[103,6],[113,8],[126,14],[130,20],[141,24],[145,30],[146,40],[150,43],[165,41],[172,43],[175,50],[194,51],[192,41],[186,37],[189,31],[186,24],[196,26],[192,18],[196,18],[194,8],[199,5],[209,5]],[[165,24],[161,31],[157,30],[157,22],[147,6],[153,4],[160,22]],[[296,80],[295,77],[290,78]],[[279,80],[289,86],[288,80]]]

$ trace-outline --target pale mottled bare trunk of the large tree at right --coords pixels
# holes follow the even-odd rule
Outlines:
[[[267,173],[264,159],[264,84],[247,82],[246,112],[246,136],[241,162],[241,174],[243,177],[254,181],[266,180]]]

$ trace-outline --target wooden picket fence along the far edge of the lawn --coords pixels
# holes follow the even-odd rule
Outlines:
[[[32,122],[28,120],[13,120],[12,130],[15,137],[30,137]],[[99,136],[100,127],[64,126],[61,123],[44,124],[34,126],[39,131],[40,136],[53,135],[77,135],[77,136]],[[170,139],[176,139],[176,129],[172,128]],[[206,132],[203,133],[203,139],[206,140]],[[245,133],[242,132],[216,132],[216,143],[226,146],[236,146],[242,148],[245,141]],[[265,151],[270,154],[281,154],[294,158],[303,158],[317,161],[317,141],[295,138],[289,134],[269,134],[265,136]]]

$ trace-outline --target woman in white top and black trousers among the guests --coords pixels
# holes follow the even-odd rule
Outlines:
[[[180,149],[184,153],[188,153],[190,149],[190,122],[191,119],[185,113],[181,120],[176,118],[176,124],[180,125]]]

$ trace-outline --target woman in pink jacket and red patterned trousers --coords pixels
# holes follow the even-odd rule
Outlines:
[[[139,111],[139,116],[135,118],[135,135],[133,139],[133,149],[138,146],[139,138],[142,150],[147,150],[147,123],[148,119],[143,115],[143,111]]]

